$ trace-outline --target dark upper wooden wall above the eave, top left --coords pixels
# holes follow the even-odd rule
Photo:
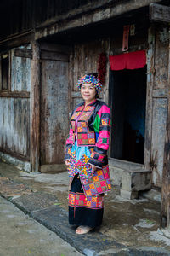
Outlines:
[[[118,0],[111,0],[116,3]],[[2,0],[0,39],[29,32],[36,26],[54,23],[105,5],[105,0]]]

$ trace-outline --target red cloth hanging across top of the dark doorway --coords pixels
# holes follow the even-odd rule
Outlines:
[[[111,70],[137,69],[146,65],[145,50],[109,56]]]

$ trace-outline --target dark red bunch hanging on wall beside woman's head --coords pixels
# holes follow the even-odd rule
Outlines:
[[[105,73],[106,73],[106,55],[105,53],[99,54],[98,61],[98,79],[101,84],[105,84]]]

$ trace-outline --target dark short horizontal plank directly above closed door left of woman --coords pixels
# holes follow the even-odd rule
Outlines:
[[[53,52],[53,51],[49,52],[49,51],[42,50],[41,51],[41,59],[42,60],[68,62],[69,61],[69,55],[62,54],[62,53],[59,53],[59,52]]]

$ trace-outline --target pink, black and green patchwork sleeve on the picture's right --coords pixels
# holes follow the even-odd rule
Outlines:
[[[94,130],[99,131],[99,137],[88,163],[101,168],[105,166],[105,157],[109,149],[109,137],[111,133],[111,109],[106,105],[103,105],[96,115]]]

